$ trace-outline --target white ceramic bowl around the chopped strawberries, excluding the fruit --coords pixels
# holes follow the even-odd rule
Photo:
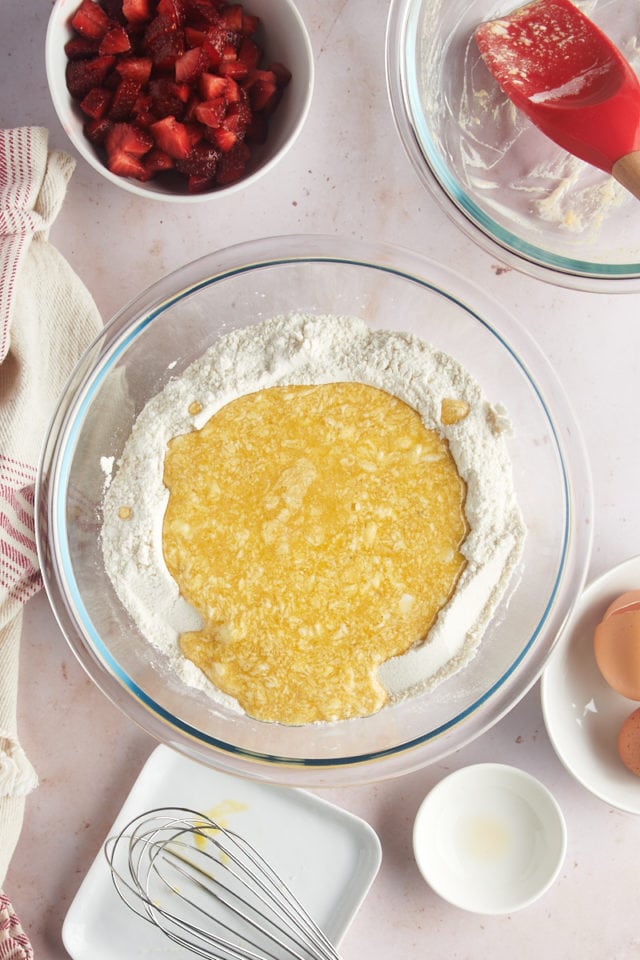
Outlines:
[[[314,59],[307,28],[293,0],[247,0],[248,13],[260,17],[258,39],[265,52],[265,62],[279,61],[291,71],[291,81],[271,117],[266,142],[254,149],[246,175],[227,186],[202,193],[163,186],[157,180],[140,182],[117,176],[104,163],[102,155],[83,133],[83,116],[67,89],[65,70],[66,41],[71,37],[69,26],[80,0],[56,0],[49,19],[46,38],[46,71],[49,92],[65,133],[78,153],[114,186],[138,196],[169,203],[202,203],[228,196],[254,183],[275,167],[298,137],[311,105],[314,82]]]

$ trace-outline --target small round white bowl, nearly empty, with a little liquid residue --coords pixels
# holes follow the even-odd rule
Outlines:
[[[566,853],[562,811],[531,774],[501,763],[462,767],[425,797],[413,829],[418,869],[463,910],[507,914],[548,890]]]

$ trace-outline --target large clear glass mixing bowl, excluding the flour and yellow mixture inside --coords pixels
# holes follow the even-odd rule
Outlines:
[[[356,720],[264,723],[187,686],[112,589],[100,530],[104,463],[170,377],[218,338],[291,312],[352,315],[459,360],[513,424],[509,451],[528,527],[509,596],[475,658],[435,690]],[[591,488],[580,431],[540,349],[497,302],[409,251],[336,237],[280,237],[213,253],[129,303],[87,351],[51,424],[37,536],[58,622],[100,689],[158,740],[212,766],[313,786],[423,766],[477,737],[539,676],[578,597]]]

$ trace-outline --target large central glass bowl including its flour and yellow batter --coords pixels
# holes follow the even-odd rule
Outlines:
[[[395,776],[479,736],[540,675],[590,552],[580,432],[526,332],[449,269],[340,238],[240,244],[125,307],[37,497],[49,598],[100,689],[282,783]],[[427,583],[435,619],[401,640]]]

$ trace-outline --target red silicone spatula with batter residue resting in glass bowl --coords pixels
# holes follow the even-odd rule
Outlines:
[[[640,83],[571,0],[534,0],[481,24],[475,40],[516,107],[640,199]]]

